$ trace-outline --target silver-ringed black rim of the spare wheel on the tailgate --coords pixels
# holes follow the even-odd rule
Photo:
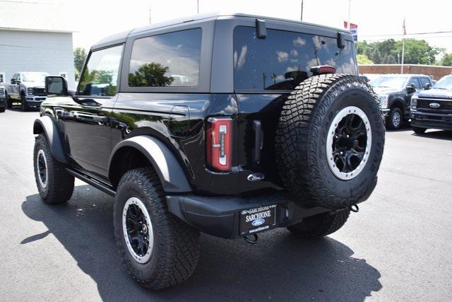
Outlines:
[[[340,110],[326,139],[331,172],[340,180],[351,180],[364,169],[369,158],[372,134],[367,115],[355,106]]]

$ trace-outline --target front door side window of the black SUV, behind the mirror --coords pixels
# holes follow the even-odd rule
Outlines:
[[[91,52],[78,84],[78,95],[116,94],[123,45]]]

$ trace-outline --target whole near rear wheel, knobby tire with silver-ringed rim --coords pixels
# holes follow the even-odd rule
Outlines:
[[[153,169],[122,176],[113,215],[119,253],[133,279],[157,290],[191,277],[198,263],[199,232],[169,213]]]

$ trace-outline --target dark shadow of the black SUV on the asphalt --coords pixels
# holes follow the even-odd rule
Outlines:
[[[81,185],[67,204],[47,205],[37,194],[23,212],[52,233],[97,283],[102,300],[343,300],[364,301],[379,291],[381,274],[366,260],[332,238],[302,240],[285,229],[260,236],[256,245],[201,235],[201,257],[191,279],[172,289],[150,292],[136,284],[121,265],[113,236],[113,198]]]

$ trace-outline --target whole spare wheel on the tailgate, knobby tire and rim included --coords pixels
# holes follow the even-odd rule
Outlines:
[[[275,137],[280,176],[299,204],[350,207],[374,190],[384,133],[367,83],[345,74],[312,76],[281,111]]]

